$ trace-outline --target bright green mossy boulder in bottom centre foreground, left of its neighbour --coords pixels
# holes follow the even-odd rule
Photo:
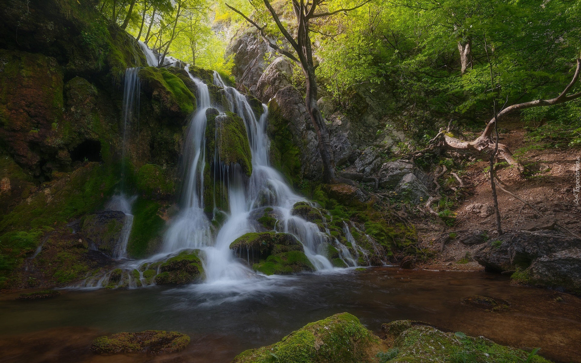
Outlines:
[[[342,312],[307,324],[278,343],[246,350],[232,363],[376,363],[383,348],[359,319]]]

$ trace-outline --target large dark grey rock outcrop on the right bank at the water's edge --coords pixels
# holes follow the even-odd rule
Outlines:
[[[520,282],[579,293],[580,246],[580,239],[554,232],[521,231],[491,240],[474,258],[487,271],[517,270]]]

